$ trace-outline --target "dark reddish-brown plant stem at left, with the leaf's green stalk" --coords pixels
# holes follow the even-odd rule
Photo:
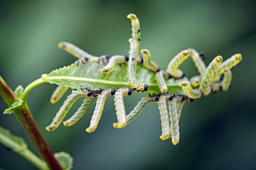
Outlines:
[[[35,82],[35,81],[34,81]],[[40,81],[41,83],[37,82],[33,86],[40,85],[44,83],[44,81]],[[30,88],[31,90],[32,88]],[[29,91],[30,91],[29,90]],[[4,98],[4,101],[10,106],[12,103],[17,101],[17,97],[15,96],[14,92],[7,83],[3,80],[0,76],[0,94]],[[27,93],[28,94],[28,93]],[[50,147],[47,145],[45,139],[43,138],[41,132],[39,131],[35,120],[33,119],[31,112],[29,111],[28,104],[24,101],[22,106],[15,110],[15,116],[19,120],[22,127],[24,127],[25,131],[27,132],[31,141],[36,147],[36,150],[40,153],[42,158],[47,162],[51,169],[61,169],[60,164],[55,159]]]

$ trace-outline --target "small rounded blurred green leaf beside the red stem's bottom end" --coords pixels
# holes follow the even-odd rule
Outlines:
[[[66,152],[54,153],[54,157],[58,160],[58,162],[60,163],[60,166],[64,170],[69,170],[72,168],[73,159],[68,153]]]

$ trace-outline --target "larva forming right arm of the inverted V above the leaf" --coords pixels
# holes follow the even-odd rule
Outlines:
[[[198,72],[200,73],[201,76],[204,75],[206,71],[206,66],[202,58],[199,56],[199,53],[196,52],[196,50],[193,48],[188,48],[188,51],[190,52],[190,56],[193,59],[193,62],[195,63],[196,68],[198,69]]]

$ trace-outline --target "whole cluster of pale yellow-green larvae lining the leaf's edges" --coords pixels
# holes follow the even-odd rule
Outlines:
[[[79,58],[76,61],[77,66],[79,64],[85,64],[86,62],[106,62],[106,66],[101,69],[104,74],[110,73],[115,69],[118,64],[125,64],[128,62],[127,66],[127,78],[128,83],[131,85],[131,89],[126,87],[120,87],[118,89],[97,89],[91,90],[81,87],[79,90],[73,90],[72,94],[67,97],[67,100],[61,106],[60,111],[56,114],[51,125],[46,129],[48,131],[53,131],[60,125],[63,118],[67,114],[68,110],[74,104],[74,102],[80,97],[85,97],[80,108],[76,113],[63,122],[65,126],[70,126],[76,124],[76,122],[83,117],[84,113],[88,110],[92,101],[97,98],[95,110],[93,111],[92,120],[90,126],[86,129],[86,132],[93,132],[99,124],[99,120],[104,108],[104,103],[109,96],[114,97],[116,117],[117,122],[113,124],[113,127],[124,128],[129,124],[134,118],[140,115],[141,111],[145,105],[151,101],[157,101],[160,117],[162,134],[160,138],[162,140],[172,138],[173,145],[179,143],[179,120],[182,108],[185,103],[193,101],[193,99],[198,99],[202,96],[208,96],[209,94],[214,94],[217,91],[226,91],[230,87],[230,82],[232,80],[232,73],[230,69],[236,64],[238,64],[242,57],[241,54],[237,53],[230,57],[229,59],[222,62],[223,58],[218,55],[215,57],[209,66],[205,66],[204,54],[199,54],[196,50],[189,48],[188,50],[183,50],[178,53],[168,64],[166,71],[163,71],[157,66],[155,62],[151,60],[151,54],[147,49],[141,50],[143,57],[138,56],[139,45],[140,45],[140,23],[136,15],[129,14],[127,18],[131,19],[132,25],[132,38],[129,39],[130,50],[129,57],[126,55],[115,55],[109,58],[108,55],[102,55],[101,57],[95,57],[90,55],[77,46],[74,46],[67,42],[61,42],[59,47],[68,53]],[[198,69],[200,75],[193,76],[189,81],[180,81],[179,85],[184,90],[186,96],[180,94],[169,94],[168,86],[166,85],[166,80],[170,78],[182,78],[185,76],[184,72],[178,67],[184,60],[191,56],[195,66]],[[141,101],[138,102],[134,110],[128,115],[125,113],[124,97],[130,96],[132,91],[134,92],[147,92],[148,85],[146,83],[140,82],[136,78],[136,67],[140,64],[146,67],[148,70],[156,73],[156,81],[159,85],[158,94],[148,94],[146,97],[142,97]],[[56,103],[60,97],[67,91],[68,87],[59,86],[52,94],[51,103]]]

